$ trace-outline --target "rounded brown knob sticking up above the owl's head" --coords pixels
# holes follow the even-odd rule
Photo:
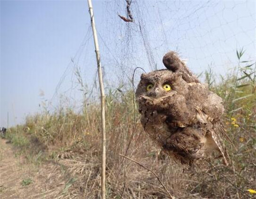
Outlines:
[[[163,64],[167,69],[172,70],[173,72],[177,72],[183,67],[182,61],[174,51],[170,51],[164,55]]]

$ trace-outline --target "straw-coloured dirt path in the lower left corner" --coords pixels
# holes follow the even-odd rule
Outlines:
[[[0,199],[65,199],[65,172],[54,163],[36,166],[0,139]]]

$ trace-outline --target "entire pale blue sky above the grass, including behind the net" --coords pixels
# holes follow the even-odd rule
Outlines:
[[[168,50],[177,50],[195,73],[212,65],[225,74],[241,47],[244,59],[255,60],[253,0],[134,1],[132,24],[117,16],[125,16],[125,0],[92,2],[107,85],[131,78],[137,66],[162,68]],[[7,125],[7,112],[10,125],[23,123],[60,94],[81,99],[74,69],[89,88],[96,74],[87,1],[0,1],[0,50],[0,126]]]

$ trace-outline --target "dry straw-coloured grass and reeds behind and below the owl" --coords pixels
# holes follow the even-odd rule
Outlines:
[[[238,81],[236,76],[228,76],[218,86],[211,84],[211,89],[225,101],[224,120],[227,135],[232,140],[232,144],[226,142],[232,161],[229,167],[221,159],[210,160],[212,165],[202,160],[200,168],[190,170],[175,163],[142,131],[132,92],[107,94],[107,198],[120,199],[123,188],[125,199],[168,198],[154,174],[123,159],[119,153],[155,171],[176,198],[253,198],[246,190],[256,189],[256,92],[252,94],[255,82],[247,78]],[[245,83],[250,85],[239,87]],[[252,95],[247,96],[249,94]],[[247,97],[239,99],[243,96]],[[7,138],[13,143],[16,140],[16,146],[20,146],[32,162],[46,167],[54,162],[62,168],[61,172],[60,168],[47,168],[47,172],[52,175],[60,172],[60,178],[65,179],[65,185],[56,192],[58,197],[48,198],[100,198],[100,106],[96,102],[85,104],[83,114],[70,109],[42,113],[28,117],[24,125],[9,129],[7,133]]]

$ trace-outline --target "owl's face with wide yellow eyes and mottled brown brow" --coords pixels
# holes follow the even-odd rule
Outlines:
[[[171,70],[156,70],[141,75],[141,81],[136,90],[136,97],[141,95],[152,99],[186,92],[187,84],[179,72]]]

